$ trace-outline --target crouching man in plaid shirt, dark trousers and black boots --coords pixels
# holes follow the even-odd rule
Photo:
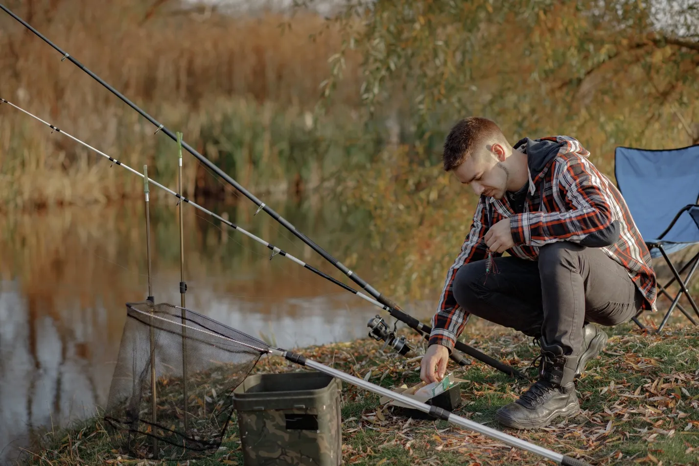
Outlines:
[[[470,314],[533,337],[539,379],[496,414],[512,428],[577,414],[574,380],[607,343],[594,323],[656,310],[650,253],[621,193],[588,156],[568,136],[513,147],[480,117],[461,120],[445,141],[444,169],[480,200],[447,272],[421,379],[444,377]]]

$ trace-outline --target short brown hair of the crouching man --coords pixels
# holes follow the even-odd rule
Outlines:
[[[444,152],[442,152],[442,162],[444,170],[451,171],[459,168],[473,155],[475,147],[479,147],[487,140],[496,138],[506,142],[503,131],[490,119],[483,117],[468,117],[461,119],[449,131],[449,135],[444,142]]]

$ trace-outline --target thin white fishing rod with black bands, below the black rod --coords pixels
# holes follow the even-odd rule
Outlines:
[[[18,107],[18,106],[15,105],[14,103],[11,103],[11,102],[7,101],[6,99],[1,99],[1,98],[0,98],[0,103],[7,103],[8,105],[13,106],[13,107],[16,108],[17,110],[20,110],[21,112],[23,112],[23,113],[29,115],[30,117],[32,117],[32,118],[38,120],[39,122],[42,122],[42,123],[45,124],[46,126],[49,126],[49,127],[53,130],[53,131],[51,131],[51,133],[57,132],[57,133],[64,134],[65,136],[67,136],[67,137],[71,138],[72,140],[74,140],[76,143],[79,143],[80,145],[83,145],[83,146],[87,147],[89,150],[92,150],[92,151],[96,152],[97,154],[100,154],[101,156],[106,157],[107,159],[109,159],[109,161],[112,162],[112,166],[114,166],[114,165],[122,166],[123,168],[126,168],[127,170],[129,170],[131,173],[134,173],[135,175],[138,175],[138,176],[140,176],[141,178],[144,178],[143,173],[140,173],[140,172],[138,172],[137,170],[134,170],[133,168],[131,168],[131,167],[127,166],[126,164],[124,164],[124,163],[118,161],[117,159],[114,159],[113,157],[111,157],[111,156],[105,154],[104,152],[101,152],[101,151],[95,149],[95,148],[92,147],[91,145],[88,145],[87,143],[83,143],[80,139],[75,138],[75,136],[71,136],[71,134],[66,133],[66,131],[63,131],[62,129],[59,129],[57,126],[54,126],[54,125],[52,125],[52,124],[50,124],[50,123],[48,123],[48,122],[45,122],[43,119],[37,117],[36,115],[32,115],[30,112],[27,112],[27,110],[24,110],[23,108]],[[345,285],[343,282],[340,282],[338,279],[335,279],[335,278],[331,277],[330,275],[327,275],[326,273],[322,272],[321,270],[318,270],[317,268],[313,267],[312,265],[308,265],[307,263],[301,261],[301,259],[296,259],[296,257],[292,256],[291,254],[288,254],[288,253],[285,252],[284,250],[282,250],[282,249],[276,247],[275,245],[272,245],[272,244],[266,242],[265,240],[263,240],[263,239],[257,237],[256,235],[253,235],[253,234],[250,233],[249,231],[246,231],[245,229],[240,228],[240,226],[237,226],[236,224],[233,224],[233,222],[224,219],[223,217],[221,217],[221,216],[215,214],[214,212],[211,212],[210,210],[206,209],[205,207],[202,207],[201,205],[195,203],[194,201],[190,201],[189,199],[185,198],[184,196],[181,196],[180,194],[176,193],[175,191],[169,189],[168,187],[163,186],[163,185],[160,184],[159,182],[156,182],[156,181],[152,180],[150,177],[148,177],[147,180],[148,180],[149,183],[152,183],[152,184],[154,184],[155,186],[159,187],[160,189],[163,189],[164,191],[167,191],[168,193],[172,194],[173,196],[175,196],[176,198],[178,198],[180,201],[183,201],[183,202],[185,202],[185,203],[187,203],[187,204],[189,204],[189,205],[192,205],[193,207],[195,207],[195,208],[201,210],[202,212],[206,212],[206,213],[209,214],[211,217],[214,217],[215,219],[218,219],[219,221],[222,221],[224,224],[230,226],[231,228],[233,228],[233,230],[240,231],[240,233],[243,233],[243,234],[246,235],[248,238],[251,238],[252,240],[255,240],[255,241],[261,243],[262,245],[268,247],[268,249],[271,249],[271,250],[272,250],[272,254],[271,254],[271,256],[269,257],[270,260],[272,260],[273,257],[274,257],[274,256],[277,256],[277,255],[279,255],[279,256],[284,256],[284,257],[286,257],[287,259],[289,259],[289,260],[291,260],[291,261],[297,263],[298,265],[302,265],[303,268],[307,268],[307,269],[310,270],[311,272],[314,272],[315,274],[317,274],[317,275],[323,277],[324,279],[327,279],[327,280],[333,282],[334,284],[336,284],[336,285],[338,285],[338,286],[341,286],[343,289],[349,291],[350,293],[354,293],[356,296],[359,296],[359,298],[362,298],[363,300],[367,300],[369,303],[372,303],[373,305],[375,305],[375,306],[377,306],[377,307],[380,307],[380,308],[381,308],[382,310],[384,310],[384,311],[390,312],[390,311],[389,311],[389,307],[382,305],[382,304],[379,303],[377,300],[374,300],[373,298],[370,298],[369,296],[366,296],[365,294],[361,293],[360,291],[356,291],[355,289],[352,289],[351,287]]]

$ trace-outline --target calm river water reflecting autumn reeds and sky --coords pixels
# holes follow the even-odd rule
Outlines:
[[[266,200],[268,201],[268,200]],[[202,202],[346,284],[315,252],[257,206]],[[268,201],[340,261],[370,260],[368,217],[320,198]],[[180,237],[172,198],[150,203],[153,293],[180,305]],[[10,212],[0,223],[0,464],[33,432],[106,404],[125,303],[147,296],[143,201]],[[291,349],[363,337],[378,309],[194,207],[185,206],[187,307]],[[375,277],[354,270],[371,284]],[[428,317],[412,311],[418,318]],[[426,312],[427,311],[427,312]]]

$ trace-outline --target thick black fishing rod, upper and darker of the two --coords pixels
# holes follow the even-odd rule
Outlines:
[[[50,41],[47,37],[43,36],[39,31],[34,29],[34,27],[31,26],[31,24],[27,23],[26,21],[22,20],[19,16],[15,15],[9,8],[4,6],[2,3],[0,3],[0,8],[4,10],[8,15],[12,16],[15,20],[20,22],[24,27],[29,29],[29,31],[33,32],[36,36],[41,38],[45,43],[48,43],[52,48],[57,50],[60,54],[63,55],[63,58],[61,61],[64,61],[65,59],[69,59],[75,66],[78,66],[82,71],[85,71],[89,76],[94,78],[97,82],[99,82],[101,85],[106,87],[110,92],[112,92],[115,96],[117,96],[119,99],[124,101],[124,103],[127,103],[131,108],[136,110],[141,116],[143,116],[145,119],[147,119],[149,122],[151,122],[154,126],[157,127],[155,134],[159,133],[159,131],[162,131],[165,133],[169,138],[171,138],[174,141],[177,141],[177,137],[175,134],[167,129],[164,124],[158,122],[156,119],[148,115],[146,112],[141,110],[138,105],[134,104],[131,102],[129,99],[127,99],[126,96],[124,96],[121,92],[117,91],[117,89],[114,89],[114,87],[110,86],[107,82],[103,81],[101,78],[99,78],[98,75],[90,71],[88,68],[85,68],[80,61],[76,60],[75,58],[71,57],[71,55],[68,52],[65,52],[61,48],[59,48],[55,43]],[[352,270],[349,270],[347,266],[345,266],[343,263],[335,259],[333,256],[331,256],[328,252],[326,252],[325,249],[320,247],[319,245],[315,244],[310,238],[308,238],[306,235],[301,233],[301,231],[298,231],[296,227],[292,224],[289,223],[286,219],[280,216],[277,212],[275,212],[271,207],[260,201],[254,194],[250,193],[250,191],[247,191],[245,187],[241,186],[236,180],[233,180],[232,177],[227,175],[223,170],[218,168],[214,163],[212,163],[209,159],[207,159],[205,156],[202,154],[199,154],[196,150],[194,150],[193,147],[191,147],[189,144],[185,143],[185,141],[182,141],[182,147],[184,147],[187,152],[195,156],[203,165],[207,166],[210,168],[214,173],[219,175],[219,177],[222,177],[226,182],[231,184],[232,187],[240,191],[241,194],[243,194],[245,197],[250,199],[255,205],[258,206],[257,212],[255,214],[257,215],[260,210],[264,210],[270,217],[278,221],[284,228],[287,228],[287,230],[291,231],[291,233],[294,233],[297,238],[299,238],[301,241],[305,243],[305,245],[308,245],[311,249],[313,249],[315,252],[320,254],[326,261],[334,265],[338,270],[343,272],[345,276],[349,277],[349,279],[352,279],[353,282],[361,286],[363,290],[368,292],[375,300],[377,300],[379,303],[382,305],[388,307],[389,309],[389,314],[393,316],[394,318],[398,319],[399,321],[403,321],[403,323],[407,324],[410,328],[416,330],[418,333],[422,335],[427,335],[426,339],[428,339],[428,335],[430,335],[432,328],[431,326],[428,326],[419,320],[415,319],[415,317],[410,316],[409,314],[406,314],[403,312],[400,306],[393,300],[385,297],[382,295],[382,293],[379,293],[376,289],[374,289],[373,286],[368,284],[366,281],[361,279],[359,275],[356,275]],[[373,321],[369,321],[368,326],[371,327],[373,324]],[[381,323],[382,326],[386,326],[385,322]],[[370,335],[373,335],[373,330],[370,332]],[[501,372],[505,372],[505,374],[509,374],[514,377],[519,377],[521,379],[525,379],[524,375],[522,375],[519,371],[514,369],[514,367],[511,367],[510,365],[507,365],[505,363],[501,363],[500,361],[497,361],[495,358],[491,358],[491,356],[487,356],[487,354],[482,353],[481,351],[478,351],[477,349],[470,347],[469,345],[456,341],[454,351],[451,351],[451,354],[449,355],[449,358],[451,358],[453,361],[458,363],[459,365],[468,365],[469,362],[464,358],[461,354],[459,354],[456,350],[463,351],[463,353],[468,354],[468,356],[471,356],[473,358],[478,359],[479,361],[482,361],[483,363],[486,363],[487,365],[490,365]]]

